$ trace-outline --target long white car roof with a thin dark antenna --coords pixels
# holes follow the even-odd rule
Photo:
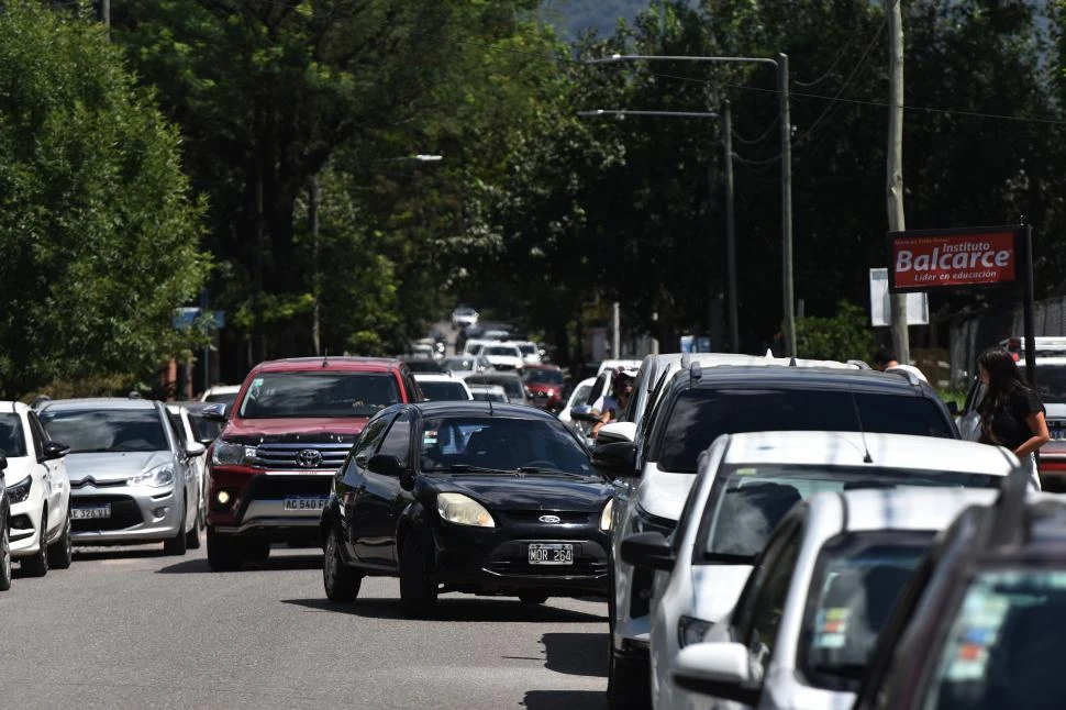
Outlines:
[[[912,434],[780,431],[730,434],[724,464],[864,466],[1006,476],[1018,459],[1001,446]],[[873,464],[864,463],[869,452]]]

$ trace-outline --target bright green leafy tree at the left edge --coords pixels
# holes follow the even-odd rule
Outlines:
[[[146,378],[207,260],[179,141],[77,13],[0,13],[0,397]]]

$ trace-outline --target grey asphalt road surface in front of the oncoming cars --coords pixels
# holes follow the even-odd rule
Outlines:
[[[322,554],[211,573],[204,550],[77,548],[0,592],[0,707],[587,710],[606,707],[607,604],[444,595],[403,618],[395,579],[354,604]]]

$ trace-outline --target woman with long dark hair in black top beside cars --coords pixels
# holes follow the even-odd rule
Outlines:
[[[1051,441],[1044,404],[1022,379],[1018,363],[1006,348],[990,347],[981,353],[977,358],[977,370],[985,384],[985,397],[977,406],[981,418],[978,441],[1014,452],[1039,490],[1034,454]]]

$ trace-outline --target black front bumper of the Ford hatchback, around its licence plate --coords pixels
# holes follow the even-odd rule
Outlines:
[[[513,595],[536,590],[549,596],[606,596],[608,535],[568,526],[551,532],[525,529],[466,528],[442,523],[433,531],[433,564],[427,577],[446,589]],[[574,562],[534,565],[530,543],[568,543]]]

